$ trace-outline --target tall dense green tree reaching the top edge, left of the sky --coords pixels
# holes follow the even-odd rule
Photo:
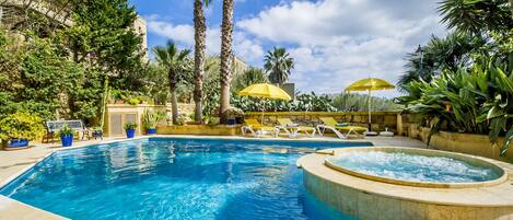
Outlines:
[[[128,0],[73,1],[74,25],[63,31],[63,42],[75,62],[98,68],[117,88],[138,90],[143,69],[142,37],[135,30],[137,13]]]

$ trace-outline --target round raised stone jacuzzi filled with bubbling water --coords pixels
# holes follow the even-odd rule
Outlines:
[[[446,151],[327,149],[298,160],[305,188],[357,219],[512,219],[508,164]]]

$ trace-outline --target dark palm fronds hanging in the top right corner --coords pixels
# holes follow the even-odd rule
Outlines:
[[[443,0],[439,12],[448,28],[481,34],[513,28],[513,0]]]

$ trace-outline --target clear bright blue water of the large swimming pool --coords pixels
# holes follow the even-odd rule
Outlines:
[[[58,151],[0,194],[71,219],[351,219],[305,192],[295,167],[302,154],[335,147],[349,144],[165,138],[101,144]]]

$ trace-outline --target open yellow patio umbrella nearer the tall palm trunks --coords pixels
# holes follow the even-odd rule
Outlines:
[[[252,96],[252,97],[263,97],[263,99],[275,99],[275,100],[292,100],[290,95],[283,91],[281,88],[272,85],[272,84],[267,84],[267,83],[258,83],[258,84],[252,84],[241,92],[238,92],[238,95],[241,96]],[[263,105],[261,109],[261,123],[264,124],[264,113],[266,108]]]

